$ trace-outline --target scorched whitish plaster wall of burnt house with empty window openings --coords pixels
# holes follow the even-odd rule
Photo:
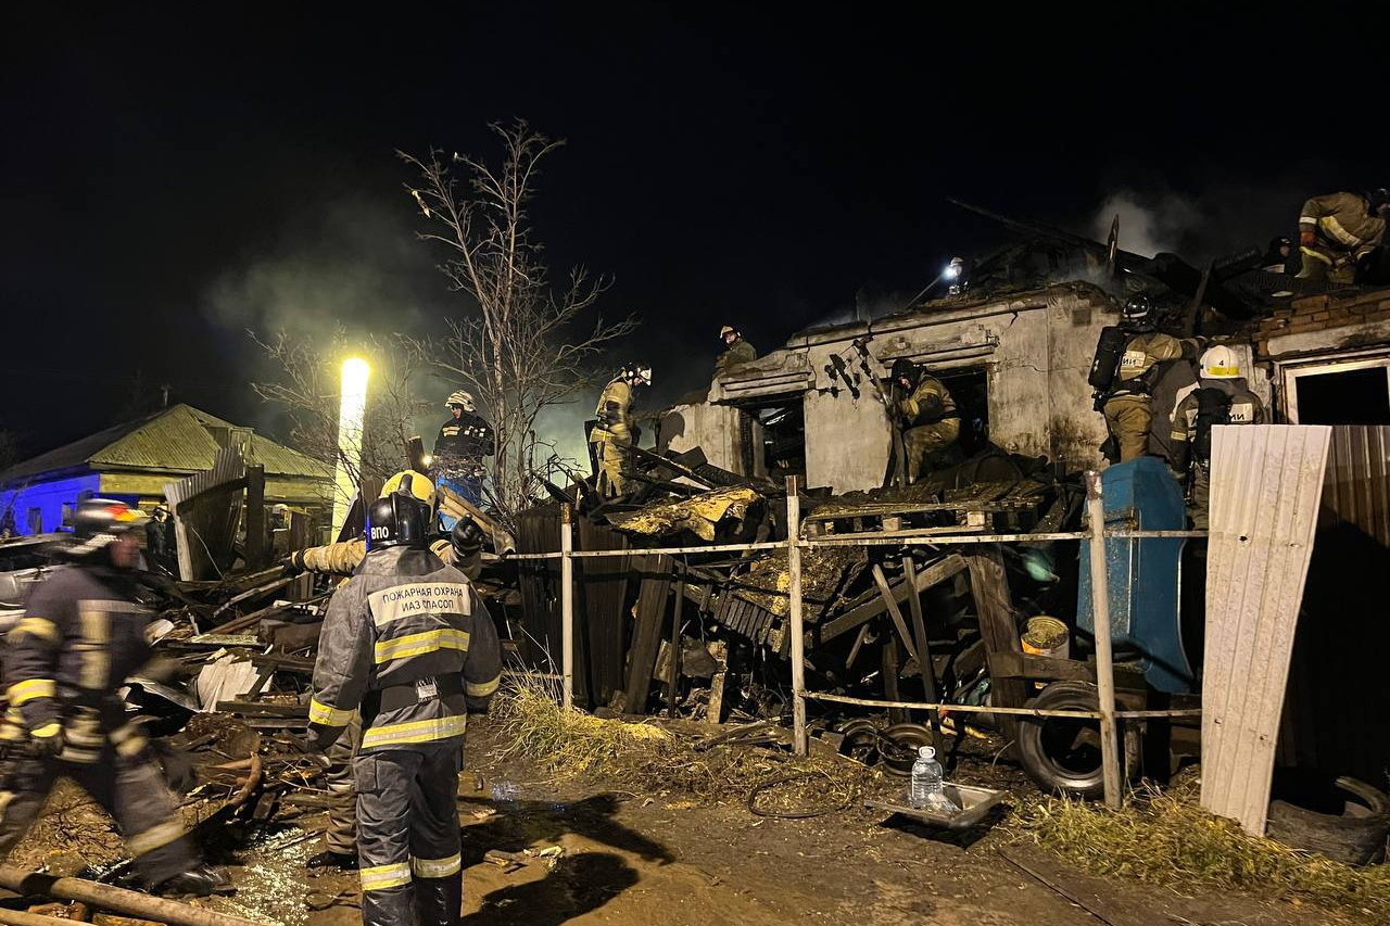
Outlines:
[[[1068,282],[810,328],[716,377],[705,403],[671,409],[660,441],[671,450],[702,448],[714,466],[745,476],[795,473],[835,494],[878,488],[891,449],[870,377],[885,378],[906,357],[951,391],[967,453],[991,442],[1090,467],[1105,423],[1087,375],[1101,328],[1118,317],[1104,291]]]

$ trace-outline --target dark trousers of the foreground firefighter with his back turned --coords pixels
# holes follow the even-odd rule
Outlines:
[[[353,767],[363,926],[456,926],[463,741],[359,752]]]

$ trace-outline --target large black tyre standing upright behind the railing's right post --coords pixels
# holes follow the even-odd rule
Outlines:
[[[1027,706],[1044,710],[1098,710],[1095,685],[1084,681],[1054,681]],[[1131,740],[1134,742],[1131,742]],[[1136,767],[1137,737],[1120,737],[1120,777]],[[1019,717],[1019,759],[1024,772],[1044,791],[1081,798],[1101,797],[1105,772],[1101,766],[1101,722],[1086,717]]]

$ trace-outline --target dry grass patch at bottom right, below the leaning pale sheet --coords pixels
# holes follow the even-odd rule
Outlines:
[[[1140,790],[1119,811],[1048,798],[1019,806],[1012,825],[1095,875],[1184,888],[1234,888],[1390,922],[1390,866],[1351,868],[1247,836],[1233,820],[1201,808],[1195,783],[1168,791]]]

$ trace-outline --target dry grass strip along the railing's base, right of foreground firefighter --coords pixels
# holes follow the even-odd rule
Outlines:
[[[543,681],[514,680],[492,708],[506,747],[503,759],[539,762],[556,777],[602,773],[626,787],[703,801],[748,798],[774,779],[796,776],[759,795],[773,812],[838,809],[849,804],[874,773],[840,759],[795,758],[751,747],[694,744],[651,723],[605,720],[582,710],[566,712]]]

